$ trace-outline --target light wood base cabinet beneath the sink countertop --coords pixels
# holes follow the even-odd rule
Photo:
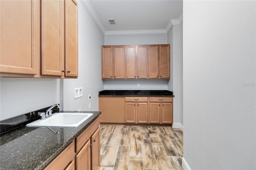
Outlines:
[[[77,136],[45,170],[99,170],[100,119]]]

